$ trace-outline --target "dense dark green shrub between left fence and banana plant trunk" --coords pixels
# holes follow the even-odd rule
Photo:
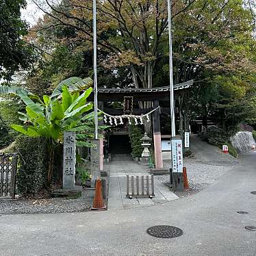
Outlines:
[[[36,196],[47,181],[47,155],[44,138],[17,139],[19,154],[17,191],[21,196]]]

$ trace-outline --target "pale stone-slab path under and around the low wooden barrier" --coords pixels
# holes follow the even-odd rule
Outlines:
[[[114,161],[110,164],[110,192],[108,209],[129,209],[135,207],[152,206],[157,203],[166,203],[178,199],[178,196],[170,191],[168,186],[155,176],[155,197],[126,198],[126,175],[149,175],[149,168],[143,164],[137,164],[132,160]]]

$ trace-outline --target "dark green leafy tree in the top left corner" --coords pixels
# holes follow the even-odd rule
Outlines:
[[[21,20],[21,8],[25,6],[25,0],[0,1],[0,79],[10,80],[31,62],[31,47],[23,40],[27,24]]]

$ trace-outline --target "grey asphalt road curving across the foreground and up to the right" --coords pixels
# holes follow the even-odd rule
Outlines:
[[[256,255],[256,151],[198,194],[152,207],[0,217],[0,255]],[[247,215],[238,211],[249,212]],[[183,229],[153,238],[154,225]]]

